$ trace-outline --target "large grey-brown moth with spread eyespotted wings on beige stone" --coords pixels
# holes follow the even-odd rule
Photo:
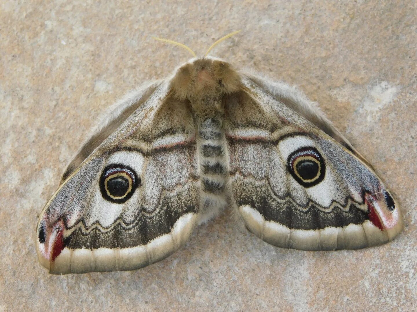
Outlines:
[[[54,274],[138,269],[225,208],[281,248],[364,248],[402,229],[384,183],[315,103],[205,56],[111,107],[40,215],[38,259]]]

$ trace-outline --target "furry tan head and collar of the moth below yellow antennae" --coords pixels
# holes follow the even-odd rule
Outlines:
[[[236,92],[240,87],[240,76],[229,63],[204,57],[181,66],[171,80],[171,86],[178,99],[219,97]]]

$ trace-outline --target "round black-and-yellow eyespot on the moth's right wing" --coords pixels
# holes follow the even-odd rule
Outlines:
[[[294,179],[304,187],[311,187],[323,181],[326,165],[316,148],[302,147],[288,156],[287,169]]]

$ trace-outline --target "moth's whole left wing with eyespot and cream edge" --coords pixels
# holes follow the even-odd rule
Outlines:
[[[43,209],[36,247],[51,273],[137,269],[190,237],[199,204],[191,115],[167,81],[149,88],[106,117]]]

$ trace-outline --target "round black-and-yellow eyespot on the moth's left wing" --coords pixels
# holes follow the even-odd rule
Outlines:
[[[132,197],[141,179],[129,166],[112,164],[104,168],[100,178],[100,191],[103,198],[112,203],[124,203]]]

